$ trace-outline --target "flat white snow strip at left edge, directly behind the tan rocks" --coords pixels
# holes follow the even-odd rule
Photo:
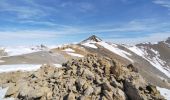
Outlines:
[[[0,65],[0,73],[14,71],[35,71],[41,65],[38,64],[15,64],[15,65]]]

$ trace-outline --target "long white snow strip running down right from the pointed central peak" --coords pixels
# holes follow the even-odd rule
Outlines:
[[[124,57],[124,58],[128,59],[129,61],[133,62],[133,60],[128,57],[128,56],[131,56],[131,54],[124,51],[124,50],[119,49],[117,47],[117,45],[115,45],[115,44],[111,45],[111,44],[108,44],[106,42],[98,42],[98,44],[103,46],[104,48],[118,54],[119,56]]]

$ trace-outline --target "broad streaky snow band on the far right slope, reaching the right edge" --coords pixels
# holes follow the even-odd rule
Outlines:
[[[160,59],[160,54],[158,51],[151,48],[150,50],[154,53],[155,56],[150,57],[145,47],[139,48],[139,47],[133,46],[133,47],[129,47],[128,49],[136,53],[137,55],[141,56],[145,60],[147,60],[151,65],[153,65],[155,68],[160,70],[166,76],[170,77],[170,69],[165,69],[165,67],[163,67],[163,65],[165,65],[166,62]]]

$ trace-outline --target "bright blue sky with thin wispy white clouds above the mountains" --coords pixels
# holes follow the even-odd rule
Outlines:
[[[138,43],[170,36],[170,0],[0,0],[0,45],[63,44],[95,34]]]

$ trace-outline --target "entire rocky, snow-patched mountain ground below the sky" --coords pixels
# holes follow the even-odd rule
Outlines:
[[[170,38],[0,47],[0,99],[170,100]]]

